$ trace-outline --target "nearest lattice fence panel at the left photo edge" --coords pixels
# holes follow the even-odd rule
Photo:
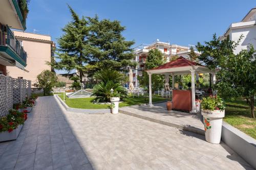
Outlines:
[[[0,75],[0,117],[7,115],[12,105],[12,78]]]

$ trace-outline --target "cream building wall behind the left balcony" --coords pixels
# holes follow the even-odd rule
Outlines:
[[[50,62],[51,56],[54,55],[55,43],[51,41],[51,36],[49,35],[19,31],[13,31],[13,33],[27,52],[27,66],[25,70],[7,66],[7,72],[13,78],[31,80],[33,85],[36,82],[37,75],[42,70],[52,70],[51,66],[47,65],[46,62]]]

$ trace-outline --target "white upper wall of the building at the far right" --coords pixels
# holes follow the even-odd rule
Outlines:
[[[239,37],[243,34],[243,38],[240,44],[234,50],[235,54],[238,54],[241,50],[247,50],[249,44],[252,44],[256,48],[256,26],[248,28],[232,29],[229,33],[232,41],[238,41]]]

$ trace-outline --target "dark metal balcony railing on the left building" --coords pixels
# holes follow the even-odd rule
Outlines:
[[[0,45],[9,46],[12,50],[27,63],[27,53],[24,51],[23,46],[15,38],[12,31],[8,26],[2,26],[2,36],[0,36]]]

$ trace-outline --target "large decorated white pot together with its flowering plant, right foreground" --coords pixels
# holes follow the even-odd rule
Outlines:
[[[225,106],[219,96],[209,96],[201,101],[201,112],[204,116],[205,139],[210,143],[220,143],[222,118]]]

